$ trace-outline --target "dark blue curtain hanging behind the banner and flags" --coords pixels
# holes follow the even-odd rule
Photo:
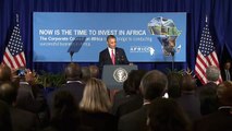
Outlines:
[[[232,56],[231,0],[0,0],[0,56],[3,56],[15,13],[19,13],[27,67],[36,71],[61,72],[66,63],[33,63],[33,12],[187,12],[186,62],[175,62],[174,68],[178,70],[187,67],[194,69],[200,32],[207,15],[219,60],[224,59],[222,52],[225,48]],[[136,64],[147,70],[166,71],[172,68],[171,62]]]

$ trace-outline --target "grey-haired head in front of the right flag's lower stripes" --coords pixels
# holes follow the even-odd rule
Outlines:
[[[216,66],[209,66],[206,69],[206,78],[208,81],[216,82],[220,75],[220,70]]]

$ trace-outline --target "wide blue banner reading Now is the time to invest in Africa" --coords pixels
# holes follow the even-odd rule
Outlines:
[[[186,61],[186,13],[34,12],[34,62],[97,62],[115,35],[131,62]]]

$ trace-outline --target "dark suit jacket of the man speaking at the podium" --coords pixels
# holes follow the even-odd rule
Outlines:
[[[99,55],[100,71],[102,71],[105,64],[113,64],[108,48],[102,50]],[[125,51],[122,48],[115,48],[115,64],[129,64]]]

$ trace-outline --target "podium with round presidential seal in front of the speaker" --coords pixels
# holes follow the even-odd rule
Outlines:
[[[137,66],[103,66],[102,81],[109,90],[122,90],[123,82],[132,70],[137,70]]]

